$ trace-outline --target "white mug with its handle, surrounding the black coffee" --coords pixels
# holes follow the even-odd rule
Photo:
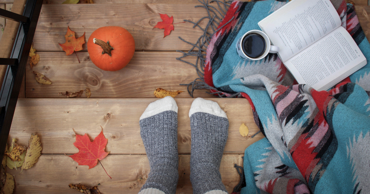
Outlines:
[[[250,58],[248,57],[244,52],[243,52],[243,49],[242,49],[242,40],[244,39],[244,37],[246,37],[248,34],[259,34],[262,36],[263,39],[265,39],[265,42],[266,42],[266,50],[265,52],[263,52],[263,54],[258,57],[258,58]],[[279,47],[276,47],[274,45],[271,45],[271,42],[270,42],[270,38],[262,31],[260,30],[250,30],[248,31],[247,33],[245,33],[242,37],[239,38],[239,40],[236,42],[236,52],[238,53],[239,57],[242,58],[242,59],[247,59],[247,60],[260,60],[260,59],[263,59],[265,58],[269,53],[277,53],[279,52]]]

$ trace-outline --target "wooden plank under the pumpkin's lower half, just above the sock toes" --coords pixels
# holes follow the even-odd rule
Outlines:
[[[38,47],[35,47],[38,50]],[[91,98],[154,98],[156,88],[182,90],[178,98],[189,98],[186,86],[198,77],[193,66],[176,60],[180,52],[135,52],[130,63],[120,71],[103,71],[96,67],[88,52],[77,52],[66,56],[65,52],[37,52],[40,62],[33,71],[47,76],[53,84],[42,85],[36,82],[30,66],[26,66],[27,98],[66,98],[59,92],[75,92],[90,88]],[[186,57],[195,63],[195,57]],[[208,90],[196,90],[195,97],[212,98],[205,93]],[[82,95],[81,98],[85,98]]]

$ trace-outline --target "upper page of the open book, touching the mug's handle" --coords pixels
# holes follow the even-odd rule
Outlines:
[[[285,62],[342,22],[330,0],[293,0],[258,24]]]

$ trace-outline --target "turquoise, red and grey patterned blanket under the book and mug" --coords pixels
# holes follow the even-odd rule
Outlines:
[[[330,91],[296,85],[276,54],[245,61],[236,39],[288,1],[233,1],[208,41],[204,82],[248,99],[266,138],[245,150],[241,193],[370,193],[370,64]],[[332,0],[367,61],[370,44],[354,6]],[[193,83],[194,85],[194,83]]]

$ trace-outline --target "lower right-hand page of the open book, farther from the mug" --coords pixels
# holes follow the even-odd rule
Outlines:
[[[339,27],[290,58],[285,65],[299,84],[319,90],[336,78],[349,76],[342,75],[364,61],[363,66],[366,58],[346,29]]]

